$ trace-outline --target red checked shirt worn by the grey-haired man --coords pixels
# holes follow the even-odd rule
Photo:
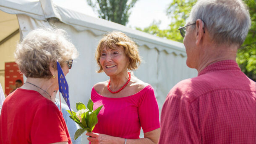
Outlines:
[[[232,60],[179,82],[162,108],[159,144],[255,144],[255,87]]]

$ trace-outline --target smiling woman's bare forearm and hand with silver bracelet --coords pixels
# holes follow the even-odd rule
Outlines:
[[[125,139],[106,134],[86,133],[91,144],[124,144]],[[144,133],[144,138],[127,139],[126,144],[157,144],[160,135],[160,128]]]

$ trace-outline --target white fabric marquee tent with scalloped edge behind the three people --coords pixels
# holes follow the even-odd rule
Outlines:
[[[87,103],[95,83],[109,79],[104,73],[95,72],[98,67],[94,59],[98,41],[108,31],[122,31],[136,41],[144,62],[134,74],[154,87],[160,109],[167,93],[177,82],[197,75],[195,69],[185,64],[182,43],[68,10],[52,0],[1,0],[0,10],[17,15],[21,39],[31,30],[44,26],[63,28],[68,32],[80,53],[66,76],[73,109],[78,101]]]

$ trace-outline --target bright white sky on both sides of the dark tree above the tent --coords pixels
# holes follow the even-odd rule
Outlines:
[[[129,22],[126,26],[131,28],[145,28],[153,21],[161,21],[160,28],[165,29],[170,24],[166,9],[172,0],[138,0],[131,9]],[[86,3],[86,0],[53,0],[64,8],[73,9],[87,15],[98,17],[97,13]]]

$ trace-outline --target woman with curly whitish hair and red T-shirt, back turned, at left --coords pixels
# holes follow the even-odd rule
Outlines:
[[[57,61],[67,75],[77,56],[78,51],[61,29],[36,29],[18,44],[16,63],[27,80],[3,103],[0,143],[72,143],[51,95],[58,90]]]

